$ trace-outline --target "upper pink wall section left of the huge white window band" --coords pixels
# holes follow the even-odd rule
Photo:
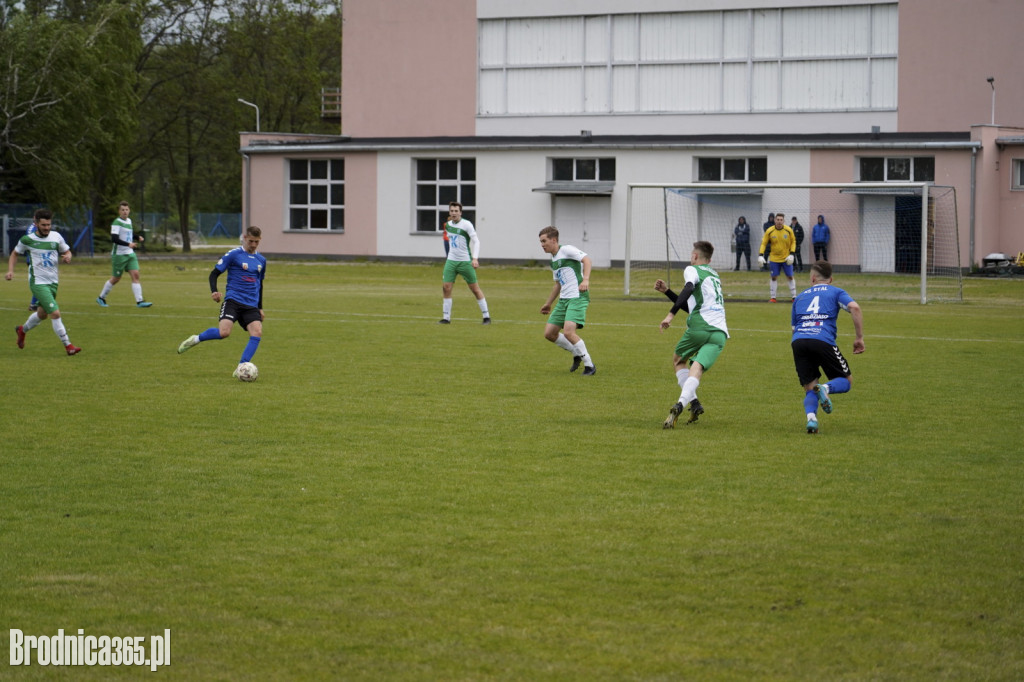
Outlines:
[[[343,134],[475,134],[476,0],[345,0],[342,12]]]

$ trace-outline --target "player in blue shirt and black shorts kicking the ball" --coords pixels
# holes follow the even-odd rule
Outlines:
[[[242,351],[239,365],[252,360],[259,340],[263,336],[263,278],[266,275],[266,258],[256,253],[262,232],[259,227],[246,227],[242,246],[225,253],[210,272],[210,297],[221,302],[217,291],[217,278],[227,271],[227,289],[220,305],[220,322],[202,334],[194,334],[181,342],[178,352],[183,353],[203,341],[226,339],[234,323],[249,332],[249,343]],[[238,377],[238,368],[231,375]]]

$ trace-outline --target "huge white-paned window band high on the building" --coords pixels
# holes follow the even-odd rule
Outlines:
[[[484,19],[478,114],[893,111],[898,4]]]

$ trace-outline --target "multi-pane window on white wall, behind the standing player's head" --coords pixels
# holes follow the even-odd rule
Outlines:
[[[440,231],[451,202],[462,204],[463,217],[476,222],[476,159],[417,159],[415,163],[417,232]]]

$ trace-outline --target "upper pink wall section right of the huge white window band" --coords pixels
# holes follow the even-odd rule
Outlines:
[[[1021,125],[1024,0],[899,0],[899,130]]]

